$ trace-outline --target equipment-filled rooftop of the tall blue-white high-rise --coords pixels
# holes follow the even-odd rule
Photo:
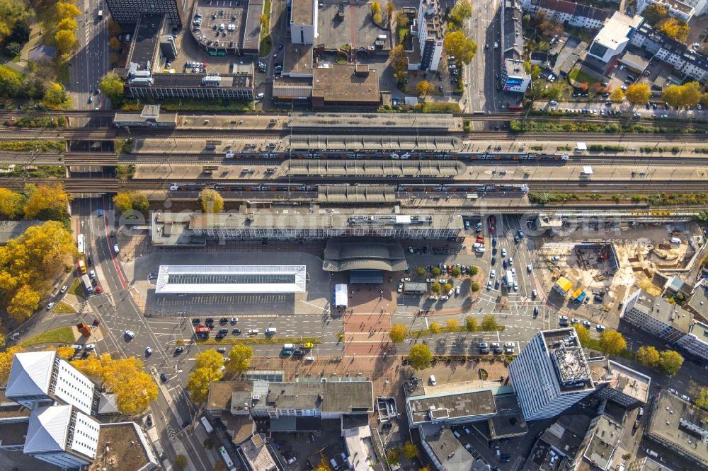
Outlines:
[[[574,329],[542,331],[561,392],[594,388],[590,368]]]

